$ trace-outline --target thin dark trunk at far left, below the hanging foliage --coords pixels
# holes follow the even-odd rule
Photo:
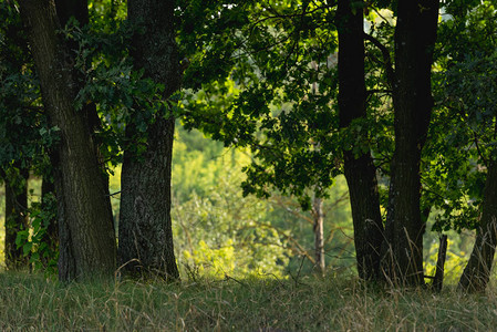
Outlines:
[[[19,170],[19,173],[18,173]],[[17,168],[11,176],[6,176],[6,266],[19,269],[28,266],[28,258],[22,248],[17,247],[15,238],[20,230],[29,227],[28,219],[28,179],[27,168]]]

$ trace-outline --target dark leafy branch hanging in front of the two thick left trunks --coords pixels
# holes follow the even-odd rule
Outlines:
[[[95,103],[100,125],[96,137],[101,143],[101,153],[105,160],[116,166],[122,160],[122,152],[128,149],[143,153],[146,146],[147,127],[157,116],[166,116],[174,111],[174,97],[164,101],[164,83],[155,83],[143,77],[143,71],[133,69],[127,54],[127,45],[136,27],[127,22],[93,22],[80,27],[71,21],[64,29],[64,35],[79,45],[75,68],[84,77],[75,107]],[[139,110],[139,112],[138,112]],[[133,125],[136,137],[124,138],[124,128]]]

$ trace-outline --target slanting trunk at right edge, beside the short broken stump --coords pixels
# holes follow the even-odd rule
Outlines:
[[[468,292],[480,292],[487,287],[497,246],[497,162],[488,167],[482,204],[480,226],[459,288]]]

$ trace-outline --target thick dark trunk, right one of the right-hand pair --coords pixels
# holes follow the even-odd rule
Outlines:
[[[390,281],[402,286],[424,284],[425,222],[420,210],[420,160],[433,107],[431,73],[438,6],[438,0],[400,0],[397,7],[393,86],[395,153],[383,269]]]

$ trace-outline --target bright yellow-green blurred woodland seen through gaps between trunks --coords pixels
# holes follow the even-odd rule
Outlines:
[[[182,274],[191,278],[267,278],[313,273],[312,215],[297,199],[273,193],[270,199],[242,196],[241,168],[250,153],[225,148],[200,132],[178,126],[173,159],[175,251]],[[110,191],[118,218],[121,167],[113,169]],[[40,200],[41,180],[32,176],[29,200]],[[0,191],[0,267],[4,269],[4,187]],[[324,200],[327,274],[355,274],[353,227],[346,183],[338,177]],[[428,221],[428,229],[434,218]],[[469,257],[474,235],[449,231],[446,278],[456,282]],[[425,236],[425,270],[434,276],[437,232]]]

